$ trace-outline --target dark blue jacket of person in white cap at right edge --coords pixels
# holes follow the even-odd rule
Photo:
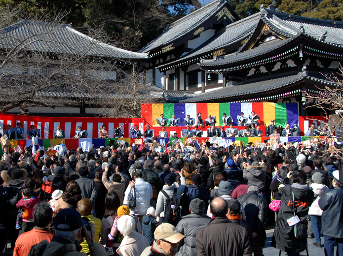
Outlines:
[[[325,193],[319,199],[319,207],[323,210],[322,230],[323,234],[343,238],[343,189],[336,187]]]

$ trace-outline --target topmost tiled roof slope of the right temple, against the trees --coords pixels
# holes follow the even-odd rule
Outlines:
[[[189,15],[173,22],[166,27],[162,34],[144,46],[140,52],[147,53],[157,47],[171,43],[176,38],[179,38],[192,30],[198,29],[198,26],[202,21],[218,12],[226,3],[229,3],[229,0],[214,0]]]

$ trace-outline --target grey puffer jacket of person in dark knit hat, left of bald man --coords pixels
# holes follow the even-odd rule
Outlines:
[[[177,256],[196,256],[196,231],[207,226],[210,221],[211,218],[206,214],[189,214],[182,217],[181,221],[177,224],[176,229],[186,237],[183,240],[184,244],[176,254]]]

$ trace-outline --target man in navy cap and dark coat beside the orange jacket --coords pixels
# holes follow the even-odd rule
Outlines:
[[[42,241],[31,248],[28,256],[87,256],[80,252],[82,249],[80,243],[84,240],[89,245],[90,256],[107,256],[105,248],[94,241],[94,224],[81,219],[81,215],[74,209],[62,209],[56,215],[53,233],[54,237],[50,243]]]

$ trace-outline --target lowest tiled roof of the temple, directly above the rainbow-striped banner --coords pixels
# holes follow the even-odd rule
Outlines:
[[[295,71],[274,76],[266,76],[260,79],[255,78],[245,80],[236,85],[230,85],[208,93],[198,94],[193,98],[180,100],[179,102],[203,102],[223,98],[227,98],[228,101],[233,101],[238,96],[261,96],[261,94],[267,91],[280,89],[282,87],[294,84],[304,78],[322,84],[329,83],[328,79],[319,73],[309,73],[304,76],[302,72]]]

